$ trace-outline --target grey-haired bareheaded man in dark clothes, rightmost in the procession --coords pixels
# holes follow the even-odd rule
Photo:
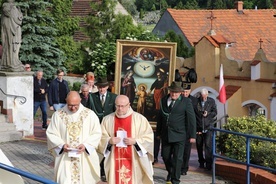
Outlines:
[[[200,91],[201,97],[198,99],[196,113],[196,148],[198,154],[199,167],[212,169],[212,123],[217,116],[217,106],[213,98],[208,97],[208,90],[203,88]],[[203,150],[205,158],[203,156]]]

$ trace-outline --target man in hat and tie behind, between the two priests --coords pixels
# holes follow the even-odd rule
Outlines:
[[[107,90],[109,83],[106,78],[98,78],[95,85],[98,87],[98,92],[90,94],[89,108],[96,113],[101,123],[104,116],[115,112],[115,99],[117,95]],[[101,161],[101,178],[102,181],[106,181],[103,163],[104,159]]]

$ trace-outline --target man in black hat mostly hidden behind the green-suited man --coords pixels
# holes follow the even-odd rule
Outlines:
[[[184,89],[182,93],[183,96],[191,99],[193,104],[193,109],[196,114],[198,99],[191,95],[191,83],[182,82],[182,87]],[[187,129],[189,129],[188,124],[187,124]],[[190,142],[190,138],[191,138],[191,135],[187,134],[184,153],[183,153],[183,164],[181,167],[181,175],[187,175],[187,172],[189,170],[189,161],[190,161],[190,155],[191,155],[191,149],[192,149],[192,143]]]

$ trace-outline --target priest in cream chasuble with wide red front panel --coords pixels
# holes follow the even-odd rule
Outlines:
[[[116,111],[104,117],[99,151],[105,156],[108,183],[153,183],[153,131],[148,120],[134,112],[127,96],[119,95]]]

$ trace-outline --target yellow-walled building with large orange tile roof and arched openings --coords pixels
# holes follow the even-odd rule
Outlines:
[[[258,112],[276,120],[276,10],[244,10],[242,5],[239,1],[231,10],[167,9],[153,32],[164,35],[173,30],[195,48],[194,57],[177,60],[177,69],[183,75],[184,67],[196,70],[192,95],[208,89],[218,118]],[[221,64],[225,105],[217,98]]]

